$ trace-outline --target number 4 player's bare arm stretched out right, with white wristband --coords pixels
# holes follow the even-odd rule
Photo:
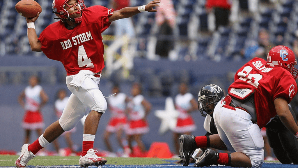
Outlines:
[[[153,9],[153,7],[158,7],[161,1],[160,0],[154,0],[149,2],[147,5],[141,6],[141,7],[124,7],[120,10],[114,11],[114,13],[109,17],[109,22],[113,22],[118,19],[123,18],[129,18],[131,16],[134,16],[138,13],[141,13],[141,11],[148,11],[148,12],[156,12],[156,9]],[[139,9],[140,10],[139,10]]]

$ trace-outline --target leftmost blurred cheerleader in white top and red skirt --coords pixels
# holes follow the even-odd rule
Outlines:
[[[38,83],[38,77],[31,76],[29,86],[18,97],[18,102],[26,111],[22,122],[22,127],[25,129],[25,143],[29,143],[32,130],[36,130],[40,136],[45,126],[40,110],[49,98]]]

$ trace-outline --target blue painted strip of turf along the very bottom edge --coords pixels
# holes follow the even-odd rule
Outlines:
[[[79,165],[73,166],[26,166],[28,168],[80,168]],[[99,166],[100,167],[100,166]],[[157,165],[109,165],[106,164],[102,168],[183,168],[184,166],[179,164],[157,164]],[[190,164],[189,167],[193,167],[193,164]],[[297,168],[295,164],[280,164],[280,163],[264,163],[261,168]],[[13,167],[5,167],[13,168]],[[95,166],[89,166],[89,168],[96,168]],[[227,168],[227,166],[211,166],[210,168]]]

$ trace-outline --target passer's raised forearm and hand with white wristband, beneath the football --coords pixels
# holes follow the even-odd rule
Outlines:
[[[34,22],[36,21],[38,16],[39,16],[39,12],[33,18],[26,18],[27,25],[28,25],[28,29],[27,29],[28,40],[32,51],[41,51],[41,42],[38,41],[38,37],[34,26]]]

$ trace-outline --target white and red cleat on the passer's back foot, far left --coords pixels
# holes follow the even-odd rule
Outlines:
[[[18,159],[15,161],[16,167],[25,167],[32,158],[35,158],[36,156],[33,155],[31,151],[28,151],[28,146],[30,144],[26,143],[22,146],[21,155],[18,157]]]

